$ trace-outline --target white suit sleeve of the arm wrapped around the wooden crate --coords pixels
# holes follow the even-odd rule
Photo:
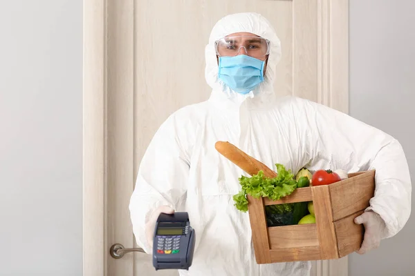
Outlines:
[[[411,213],[412,184],[400,143],[385,132],[319,103],[306,102],[311,127],[311,166],[347,172],[376,170],[375,194],[367,210],[385,221],[392,237],[405,226]]]

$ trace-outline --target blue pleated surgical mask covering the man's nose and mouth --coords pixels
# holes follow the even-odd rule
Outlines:
[[[265,61],[237,55],[219,57],[219,79],[235,92],[247,94],[264,81]]]

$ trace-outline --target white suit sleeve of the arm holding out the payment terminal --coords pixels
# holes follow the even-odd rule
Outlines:
[[[177,210],[187,191],[190,162],[180,127],[172,115],[160,126],[142,157],[129,210],[138,246],[149,252],[145,233],[151,212],[167,205]]]

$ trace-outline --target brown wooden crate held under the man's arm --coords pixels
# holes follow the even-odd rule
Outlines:
[[[357,172],[326,186],[297,188],[278,201],[248,195],[252,240],[258,264],[339,259],[360,248],[364,228],[353,219],[374,196],[375,170]],[[315,224],[268,227],[265,206],[313,201]]]

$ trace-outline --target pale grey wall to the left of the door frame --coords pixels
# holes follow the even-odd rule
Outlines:
[[[82,275],[82,0],[0,1],[0,275]]]

